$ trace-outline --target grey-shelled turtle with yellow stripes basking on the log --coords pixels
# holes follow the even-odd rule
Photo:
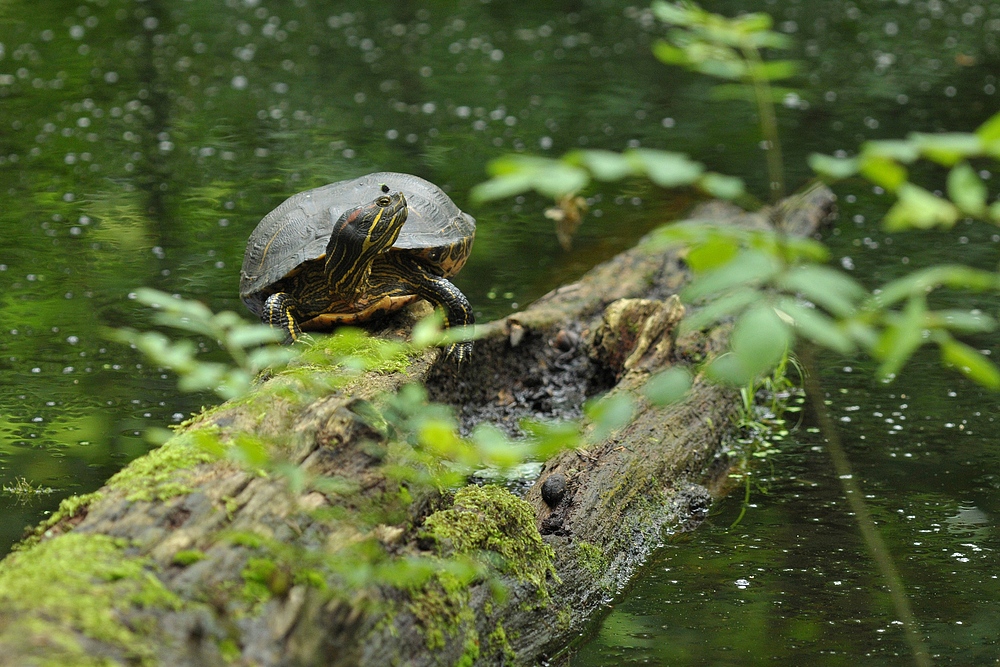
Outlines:
[[[364,322],[423,298],[445,326],[475,322],[448,278],[472,251],[476,220],[433,183],[378,172],[293,195],[264,216],[247,241],[240,298],[286,333]],[[446,348],[459,363],[471,341]]]

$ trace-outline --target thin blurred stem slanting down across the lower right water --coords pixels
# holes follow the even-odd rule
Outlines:
[[[816,420],[819,423],[820,430],[826,436],[826,449],[830,454],[830,460],[833,462],[833,469],[837,473],[837,478],[840,479],[840,484],[844,489],[844,497],[847,498],[847,504],[850,506],[851,511],[854,512],[854,518],[857,521],[858,529],[861,531],[861,537],[864,539],[865,546],[868,547],[868,552],[871,554],[872,560],[875,561],[879,573],[885,579],[886,586],[889,589],[889,597],[892,600],[892,606],[896,610],[896,616],[903,624],[903,629],[906,632],[906,641],[910,645],[910,651],[913,653],[913,663],[917,667],[931,667],[931,656],[927,651],[927,646],[924,644],[924,638],[920,632],[920,624],[917,622],[916,616],[913,615],[913,608],[910,606],[910,600],[906,596],[906,586],[903,584],[903,579],[899,576],[899,570],[896,569],[896,565],[892,560],[892,553],[889,551],[889,547],[886,546],[875,520],[872,519],[871,512],[868,511],[868,505],[865,503],[861,486],[851,472],[851,464],[847,458],[847,452],[844,451],[840,443],[840,437],[837,435],[837,427],[834,425],[833,419],[826,409],[826,403],[823,402],[823,394],[820,390],[819,380],[817,380],[817,367],[812,349],[808,347],[804,349],[799,360],[802,362],[804,370],[802,377],[806,387],[806,395],[811,399],[810,403],[812,403],[813,410],[816,412]]]

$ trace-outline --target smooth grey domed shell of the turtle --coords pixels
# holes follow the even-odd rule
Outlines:
[[[402,192],[407,204],[406,223],[390,252],[413,253],[445,278],[457,273],[472,250],[475,218],[419,176],[378,172],[300,192],[264,216],[250,234],[240,270],[240,297],[251,310],[256,312],[254,295],[324,257],[334,223],[345,211],[374,201],[383,184]]]

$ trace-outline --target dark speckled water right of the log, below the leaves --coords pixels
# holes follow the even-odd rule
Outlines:
[[[994,664],[996,411],[933,358],[912,370],[889,386],[831,364],[822,383],[935,663]],[[735,528],[742,494],[660,551],[570,664],[914,664],[811,426],[758,471]]]

